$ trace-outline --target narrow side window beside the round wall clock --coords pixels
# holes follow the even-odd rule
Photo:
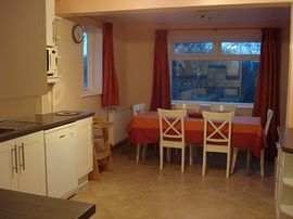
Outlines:
[[[84,96],[101,94],[102,29],[86,27],[84,37]]]

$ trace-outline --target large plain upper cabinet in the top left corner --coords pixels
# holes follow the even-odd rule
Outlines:
[[[47,92],[46,0],[0,7],[0,100]]]

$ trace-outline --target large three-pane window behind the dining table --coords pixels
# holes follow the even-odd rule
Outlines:
[[[252,104],[259,54],[258,31],[170,35],[171,100]]]

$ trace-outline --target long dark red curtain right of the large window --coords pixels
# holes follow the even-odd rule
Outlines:
[[[264,127],[268,108],[275,112],[267,134],[268,147],[265,151],[266,158],[269,159],[272,159],[277,153],[277,126],[279,125],[279,29],[262,29],[260,63],[253,116],[260,116]]]

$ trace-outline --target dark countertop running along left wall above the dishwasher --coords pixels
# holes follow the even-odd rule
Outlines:
[[[15,139],[17,137],[26,136],[33,132],[48,130],[51,128],[55,128],[58,126],[63,126],[66,124],[74,123],[76,120],[80,120],[82,118],[88,118],[94,116],[94,113],[91,112],[78,112],[77,115],[73,116],[58,116],[54,113],[50,114],[36,114],[31,116],[26,116],[17,119],[17,121],[28,121],[36,123],[36,126],[30,128],[24,128],[20,130],[12,130],[4,133],[0,133],[0,142],[7,141],[10,139]]]

